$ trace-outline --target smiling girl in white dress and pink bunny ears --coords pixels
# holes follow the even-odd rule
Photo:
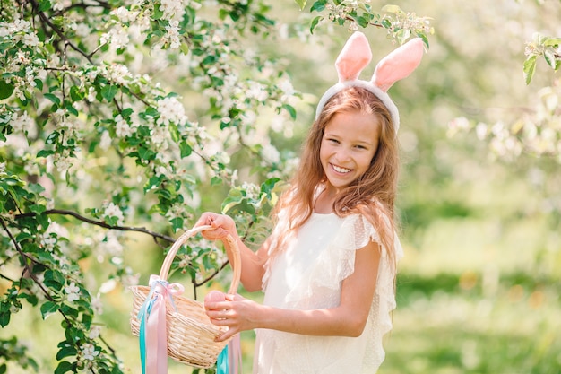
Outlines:
[[[360,81],[370,48],[364,34],[350,37],[336,63],[340,82],[319,102],[276,227],[256,252],[229,216],[203,213],[197,222],[215,229],[207,239],[237,240],[241,283],[264,291],[263,304],[238,295],[205,303],[211,322],[229,327],[220,340],[257,329],[255,373],[372,374],[384,361],[402,256],[393,223],[399,114],[385,91],[422,55],[413,39]]]

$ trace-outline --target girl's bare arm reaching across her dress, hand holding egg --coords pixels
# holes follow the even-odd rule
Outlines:
[[[358,249],[355,271],[342,283],[341,303],[331,309],[278,309],[227,295],[228,301],[209,303],[207,315],[217,326],[228,326],[220,336],[228,339],[240,331],[268,328],[301,335],[361,335],[374,298],[380,247],[370,242]]]

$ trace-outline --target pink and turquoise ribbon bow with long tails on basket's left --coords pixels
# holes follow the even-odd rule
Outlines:
[[[140,320],[140,352],[142,374],[165,374],[168,372],[168,336],[166,327],[166,299],[173,301],[175,295],[183,293],[179,283],[168,283],[158,275],[150,276],[150,293],[138,312]]]

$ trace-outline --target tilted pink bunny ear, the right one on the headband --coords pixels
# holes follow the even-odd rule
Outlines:
[[[388,91],[393,83],[405,78],[419,66],[424,51],[422,39],[411,39],[376,65],[372,83],[380,90]]]

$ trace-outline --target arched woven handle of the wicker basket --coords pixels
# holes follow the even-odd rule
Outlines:
[[[214,230],[214,228],[211,225],[197,226],[191,230],[186,230],[179,238],[177,238],[177,240],[173,243],[173,246],[169,249],[168,255],[166,255],[166,258],[161,265],[160,280],[168,280],[169,268],[171,267],[173,259],[176,257],[177,250],[186,243],[187,239],[194,237],[194,235],[204,230]],[[239,278],[241,276],[241,255],[239,253],[236,240],[232,238],[230,234],[226,236],[226,240],[228,241],[229,247],[232,249],[232,254],[234,255],[232,258],[233,261],[230,264],[232,270],[234,271],[234,276],[232,277],[232,283],[230,284],[228,291],[229,294],[234,295],[237,292],[237,286],[239,285]]]

